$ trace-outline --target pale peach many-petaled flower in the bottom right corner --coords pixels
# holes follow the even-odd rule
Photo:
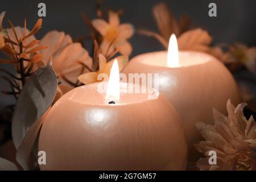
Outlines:
[[[200,169],[209,170],[256,170],[256,123],[253,116],[243,115],[245,103],[236,108],[227,102],[228,118],[213,110],[215,125],[197,123],[205,141],[195,144],[207,158],[197,162]],[[217,164],[208,163],[209,151],[216,151]]]

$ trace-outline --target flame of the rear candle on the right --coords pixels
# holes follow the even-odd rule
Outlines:
[[[178,67],[179,66],[179,49],[177,46],[177,39],[174,34],[171,35],[167,53],[167,66]]]

